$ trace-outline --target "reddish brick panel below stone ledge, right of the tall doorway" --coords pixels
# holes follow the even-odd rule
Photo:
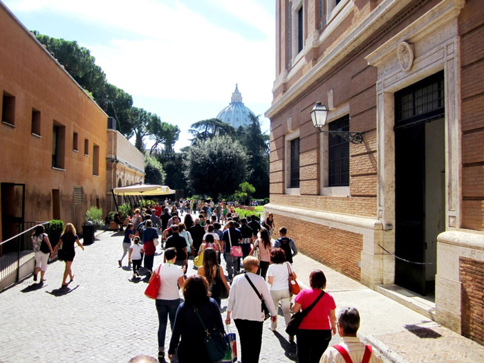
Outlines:
[[[459,258],[462,335],[484,344],[484,261]]]

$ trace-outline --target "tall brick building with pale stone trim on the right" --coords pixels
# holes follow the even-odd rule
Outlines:
[[[305,254],[435,296],[429,316],[483,343],[484,3],[277,0],[276,19],[266,212]],[[316,102],[323,131],[363,141],[319,133]]]

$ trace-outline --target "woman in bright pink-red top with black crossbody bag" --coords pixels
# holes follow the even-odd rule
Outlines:
[[[292,311],[304,311],[316,299],[317,304],[304,317],[297,329],[297,359],[301,363],[317,363],[336,333],[335,299],[327,292],[326,276],[322,270],[314,270],[309,275],[311,288],[301,290],[292,305]]]

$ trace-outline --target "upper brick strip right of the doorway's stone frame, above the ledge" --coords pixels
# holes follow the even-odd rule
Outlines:
[[[462,84],[462,227],[484,230],[484,6],[466,1],[459,16]]]

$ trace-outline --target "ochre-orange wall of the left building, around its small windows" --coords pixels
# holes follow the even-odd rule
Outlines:
[[[105,208],[106,114],[1,3],[0,49],[0,92],[15,96],[15,128],[0,124],[0,182],[26,184],[26,221],[53,218],[52,189],[59,189],[61,218],[79,229],[96,198]],[[30,132],[32,108],[41,112],[40,138]],[[52,168],[54,120],[66,131],[64,171]],[[99,146],[99,176],[93,176],[94,145]],[[73,205],[74,185],[84,189],[82,205]]]

